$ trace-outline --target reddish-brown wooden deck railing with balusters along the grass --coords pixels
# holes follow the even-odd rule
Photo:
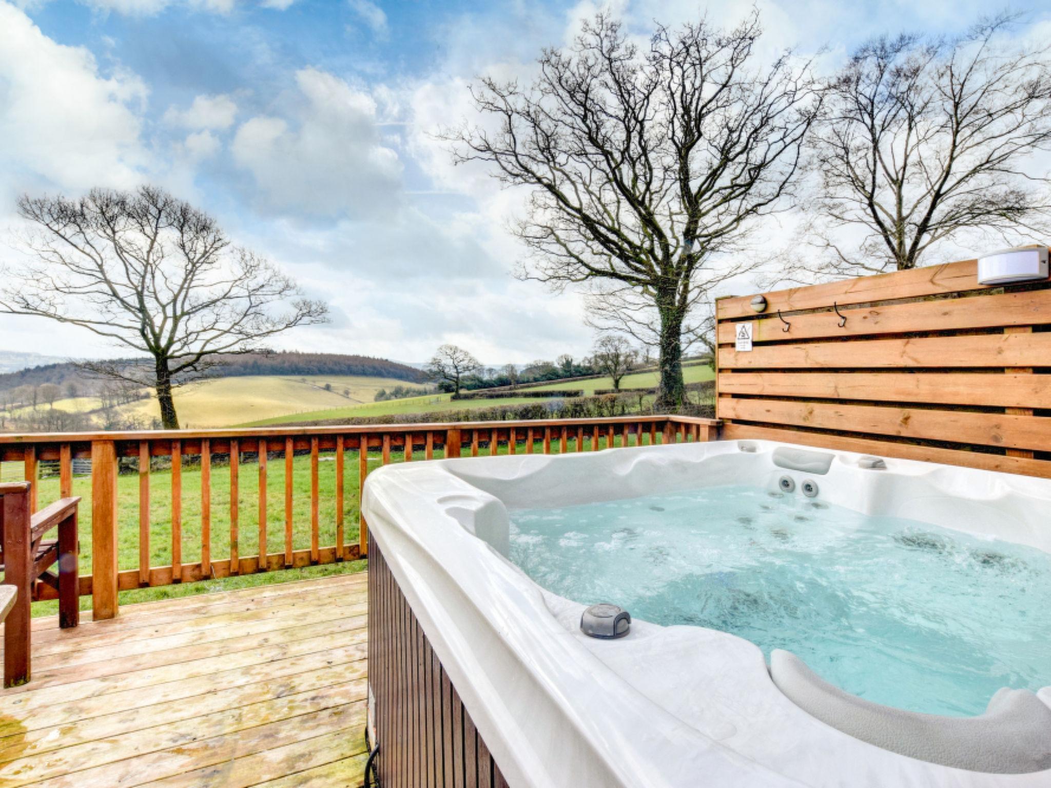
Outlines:
[[[508,421],[442,421],[411,422],[397,424],[336,424],[324,427],[273,427],[222,430],[145,430],[136,432],[94,432],[94,433],[41,433],[27,435],[0,435],[0,461],[21,460],[25,478],[35,481],[40,461],[58,460],[60,495],[62,500],[50,504],[37,514],[43,521],[62,519],[75,506],[77,499],[73,492],[73,460],[91,458],[91,506],[89,533],[91,538],[92,572],[80,578],[81,595],[92,597],[95,618],[109,618],[118,611],[118,593],[143,586],[167,585],[209,578],[223,578],[255,572],[275,571],[332,563],[364,557],[367,553],[368,524],[359,521],[356,544],[348,544],[345,533],[345,471],[346,454],[357,454],[357,489],[364,489],[370,464],[379,460],[387,464],[398,457],[404,461],[414,459],[413,453],[423,452],[426,459],[432,459],[436,452],[445,457],[479,456],[488,443],[488,454],[497,454],[500,444],[507,444],[509,454],[550,454],[554,445],[564,453],[598,450],[604,445],[613,448],[628,445],[634,439],[636,445],[710,440],[716,437],[718,421],[706,418],[667,415],[605,416],[572,419],[516,419]],[[630,439],[631,438],[631,439]],[[572,447],[571,447],[572,444]],[[321,483],[320,462],[322,453],[334,454],[335,498],[334,525],[335,544],[323,545],[321,533]],[[304,521],[294,513],[295,482],[293,458],[296,454],[309,456],[309,505],[305,507]],[[369,455],[372,455],[371,457]],[[228,512],[218,512],[211,500],[211,484],[222,472],[222,465],[214,464],[217,457],[229,458],[229,488],[231,491]],[[170,533],[160,537],[170,539],[170,562],[151,565],[150,510],[158,501],[150,495],[150,477],[157,473],[150,468],[156,457],[170,458]],[[257,496],[259,548],[246,555],[240,549],[240,514],[256,509],[255,504],[242,501],[239,486],[240,466],[248,462],[257,463],[259,489],[267,490],[268,459],[284,458],[277,466],[276,479],[270,474],[270,481],[284,479],[284,513],[281,535],[281,549],[271,553],[274,544],[273,528],[268,533],[267,495]],[[121,522],[118,498],[120,462],[135,458],[138,460],[138,516],[125,517],[123,527],[133,525],[139,535],[138,567],[120,568],[118,553],[120,538],[118,524]],[[199,459],[198,464],[187,464],[187,458]],[[199,561],[184,562],[184,477],[187,468],[200,473],[201,499],[200,555]],[[353,465],[351,465],[353,468]],[[199,469],[199,471],[197,470]],[[12,485],[5,485],[12,486]],[[39,485],[16,482],[13,489],[29,492],[35,500]],[[0,490],[3,488],[0,486]],[[273,496],[269,496],[273,499]],[[125,498],[124,500],[127,500]],[[133,498],[132,498],[133,500]],[[277,498],[277,500],[281,500]],[[245,505],[247,504],[247,505]],[[133,504],[132,504],[133,505]],[[35,502],[30,504],[35,509]],[[326,506],[327,509],[327,506]],[[225,506],[224,506],[225,510]],[[192,511],[192,510],[191,510]],[[82,512],[84,517],[86,513]],[[272,513],[271,513],[272,514]],[[326,520],[329,515],[326,515]],[[212,534],[222,526],[229,526],[229,555],[213,555]],[[296,534],[309,532],[308,543],[296,543]],[[124,538],[127,538],[127,534]],[[39,587],[41,598],[50,593]]]

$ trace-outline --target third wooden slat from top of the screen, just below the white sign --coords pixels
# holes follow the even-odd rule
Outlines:
[[[728,345],[719,349],[719,366],[726,370],[1051,367],[1051,332],[760,345],[747,353]]]

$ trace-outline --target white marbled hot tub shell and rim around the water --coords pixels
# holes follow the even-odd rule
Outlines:
[[[797,486],[819,480],[821,499],[863,514],[1051,553],[1051,480],[889,458],[872,469],[846,452],[828,452],[827,472],[815,476],[776,464],[779,448],[782,458],[802,453],[801,465],[820,454],[714,441],[405,463],[369,475],[362,511],[516,788],[1051,786],[1051,768],[972,771],[848,735],[789,700],[759,647],[726,633],[636,620],[622,639],[588,638],[583,604],[544,590],[506,558],[509,509],[722,484],[774,490],[785,474]],[[1051,687],[1037,698],[1040,712],[1051,708]]]

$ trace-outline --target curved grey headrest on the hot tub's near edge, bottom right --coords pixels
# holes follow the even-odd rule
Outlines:
[[[770,678],[826,725],[902,755],[972,771],[1051,769],[1051,708],[1025,689],[1000,689],[978,717],[937,717],[881,706],[823,681],[794,654],[770,655]]]

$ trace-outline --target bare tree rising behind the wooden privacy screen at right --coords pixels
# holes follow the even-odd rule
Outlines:
[[[1051,148],[1051,47],[1003,40],[1013,18],[965,36],[878,38],[850,58],[816,127],[820,188],[804,237],[813,271],[915,268],[940,242],[1043,240]],[[976,239],[972,239],[976,240]]]

